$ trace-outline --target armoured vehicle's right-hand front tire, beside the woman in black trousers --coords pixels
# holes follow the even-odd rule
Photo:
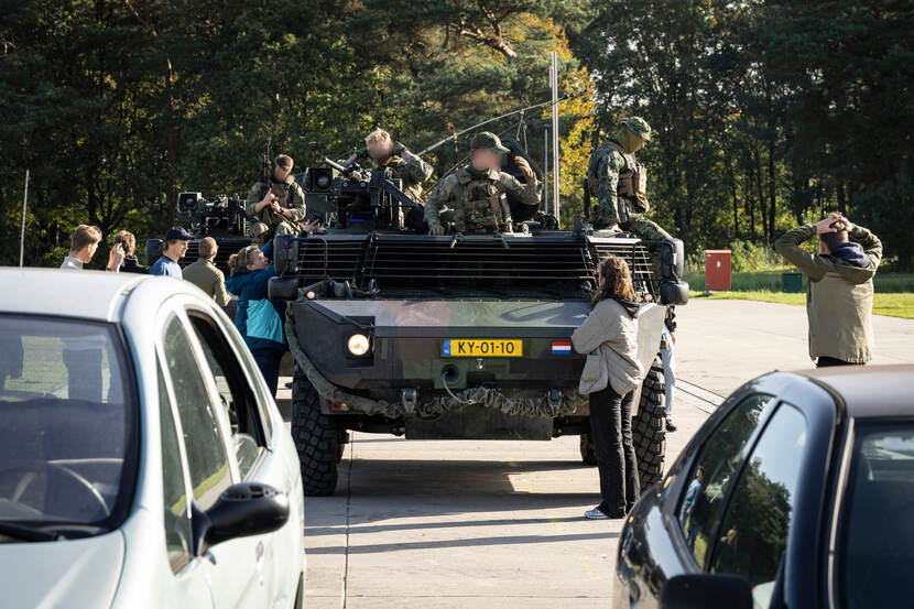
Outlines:
[[[654,360],[641,387],[638,415],[632,418],[632,442],[638,457],[641,492],[663,478],[666,458],[666,404],[663,365]]]

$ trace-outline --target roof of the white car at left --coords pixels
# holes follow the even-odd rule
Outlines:
[[[80,317],[119,322],[126,298],[143,286],[150,314],[171,295],[193,294],[187,282],[135,273],[0,267],[0,313]]]

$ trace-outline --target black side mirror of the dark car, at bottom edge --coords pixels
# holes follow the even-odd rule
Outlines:
[[[671,577],[660,595],[661,609],[752,609],[749,581],[735,575]]]

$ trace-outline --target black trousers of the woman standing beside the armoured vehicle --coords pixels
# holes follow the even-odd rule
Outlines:
[[[602,497],[598,509],[611,518],[625,515],[641,494],[632,444],[633,399],[633,392],[619,395],[611,387],[590,394],[590,437]]]

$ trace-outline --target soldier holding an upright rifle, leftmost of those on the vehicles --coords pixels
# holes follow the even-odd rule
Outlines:
[[[292,157],[276,156],[271,183],[260,181],[248,193],[248,214],[257,221],[251,222],[250,236],[258,243],[270,241],[275,235],[298,235],[307,213],[305,193],[292,175]]]

